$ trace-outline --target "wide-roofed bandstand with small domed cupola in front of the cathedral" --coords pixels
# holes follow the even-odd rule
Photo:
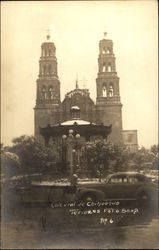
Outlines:
[[[50,138],[61,138],[62,141],[62,162],[65,166],[69,166],[70,174],[73,174],[74,153],[76,154],[77,164],[80,165],[79,149],[77,149],[77,141],[91,141],[95,138],[107,139],[111,133],[112,126],[103,124],[95,124],[80,119],[80,109],[78,106],[71,108],[72,119],[63,123],[40,127],[40,134],[45,140],[47,146]]]

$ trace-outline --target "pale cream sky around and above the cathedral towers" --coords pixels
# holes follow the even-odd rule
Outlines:
[[[158,3],[147,1],[1,2],[1,142],[34,134],[36,80],[47,30],[56,46],[61,99],[79,87],[96,101],[99,41],[113,40],[123,129],[138,144],[158,143]]]

